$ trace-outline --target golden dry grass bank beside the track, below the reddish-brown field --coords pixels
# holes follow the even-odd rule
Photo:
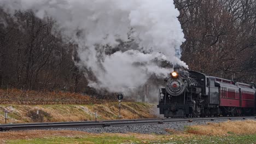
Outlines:
[[[4,108],[8,114],[8,123],[28,122],[67,122],[118,119],[118,103],[90,104],[90,105],[0,105],[0,123],[4,123]],[[143,103],[121,103],[121,115],[124,119],[153,118],[153,105]],[[2,109],[2,110],[1,110]],[[39,110],[39,116],[36,111]]]

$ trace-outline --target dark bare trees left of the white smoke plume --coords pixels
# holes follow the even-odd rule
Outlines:
[[[86,80],[73,62],[75,46],[51,34],[53,20],[39,20],[31,11],[0,14],[1,87],[85,90]]]

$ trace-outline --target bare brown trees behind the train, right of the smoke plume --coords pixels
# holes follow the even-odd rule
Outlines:
[[[256,1],[175,0],[185,33],[183,61],[208,75],[255,82]]]

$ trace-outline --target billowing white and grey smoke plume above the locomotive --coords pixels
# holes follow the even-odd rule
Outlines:
[[[97,81],[89,85],[95,88],[121,91],[143,85],[152,74],[166,76],[170,70],[160,68],[161,61],[187,67],[179,59],[184,34],[172,0],[0,0],[0,5],[12,14],[33,10],[40,19],[52,17],[55,30],[78,45],[77,65],[94,73]],[[119,41],[128,44],[106,52]]]

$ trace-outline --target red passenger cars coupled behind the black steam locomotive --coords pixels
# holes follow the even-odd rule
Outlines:
[[[215,79],[219,87],[219,107],[226,113],[235,115],[255,113],[255,89],[252,85],[219,77],[208,76]]]

